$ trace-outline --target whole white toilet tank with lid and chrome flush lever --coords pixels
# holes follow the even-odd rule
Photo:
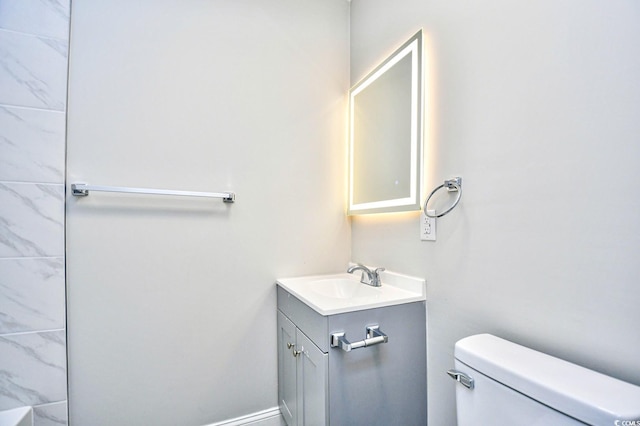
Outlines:
[[[455,346],[458,426],[640,426],[640,387],[490,334]]]

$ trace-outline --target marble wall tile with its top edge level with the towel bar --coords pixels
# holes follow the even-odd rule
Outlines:
[[[64,255],[64,185],[0,182],[0,257]]]

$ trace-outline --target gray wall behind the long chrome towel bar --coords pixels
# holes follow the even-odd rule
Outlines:
[[[276,277],[349,260],[344,0],[77,0],[70,421],[203,425],[277,406]]]

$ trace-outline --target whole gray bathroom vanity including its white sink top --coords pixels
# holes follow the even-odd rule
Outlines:
[[[278,280],[288,426],[426,424],[425,283],[381,276],[380,287],[349,274]]]

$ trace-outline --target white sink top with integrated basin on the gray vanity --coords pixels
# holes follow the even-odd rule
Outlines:
[[[380,287],[362,284],[359,273],[281,278],[277,284],[321,315],[426,300],[423,279],[389,271],[380,277]]]

